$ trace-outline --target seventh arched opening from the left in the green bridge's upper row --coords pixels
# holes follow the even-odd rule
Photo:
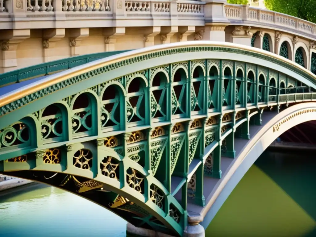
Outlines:
[[[180,67],[176,69],[173,74],[172,82],[172,92],[171,92],[171,112],[172,115],[177,115],[176,117],[183,117],[186,114],[186,91],[185,87],[187,72],[184,68]]]

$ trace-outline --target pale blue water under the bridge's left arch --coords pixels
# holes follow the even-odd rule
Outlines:
[[[0,236],[126,236],[126,221],[69,192],[32,184],[0,196]]]

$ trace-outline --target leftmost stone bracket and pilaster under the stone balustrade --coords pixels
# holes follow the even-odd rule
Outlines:
[[[31,37],[30,29],[3,30],[0,34],[0,73],[14,70],[18,66],[16,50],[19,44]]]

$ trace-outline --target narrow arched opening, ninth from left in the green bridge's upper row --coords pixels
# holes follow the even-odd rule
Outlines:
[[[208,108],[214,109],[217,105],[217,90],[218,88],[219,70],[217,66],[211,65],[208,79]]]

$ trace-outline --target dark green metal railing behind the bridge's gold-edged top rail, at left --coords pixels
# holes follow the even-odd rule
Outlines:
[[[2,73],[0,74],[0,86],[10,83],[21,82],[23,80],[39,76],[50,75],[58,71],[67,70],[89,62],[93,62],[101,58],[106,58],[112,55],[128,51],[130,50],[85,54],[71,58],[63,58],[47,63],[37,64],[30,67],[25,67],[18,70]]]

